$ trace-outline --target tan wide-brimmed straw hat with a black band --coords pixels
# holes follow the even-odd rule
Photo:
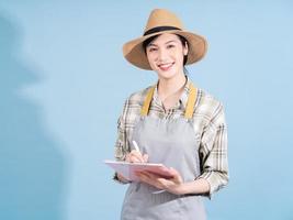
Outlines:
[[[139,68],[151,69],[143,48],[143,42],[162,33],[174,33],[187,38],[189,44],[187,65],[200,61],[206,53],[207,42],[203,36],[185,31],[174,13],[165,9],[155,9],[150,12],[143,36],[123,45],[124,57]]]

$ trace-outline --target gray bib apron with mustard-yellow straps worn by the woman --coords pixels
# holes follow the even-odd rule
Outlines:
[[[176,168],[183,182],[200,176],[199,141],[192,124],[196,90],[190,82],[190,96],[184,117],[159,119],[147,116],[154,87],[148,91],[142,116],[133,131],[140,152],[148,154],[149,163],[161,163]],[[146,114],[146,116],[145,116]],[[201,196],[159,193],[144,183],[131,183],[122,207],[122,220],[204,220],[205,209]]]

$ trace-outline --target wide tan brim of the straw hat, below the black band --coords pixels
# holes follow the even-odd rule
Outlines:
[[[192,32],[180,31],[180,30],[156,32],[156,33],[129,41],[123,45],[124,57],[131,64],[137,66],[138,68],[151,70],[151,67],[149,66],[147,56],[143,48],[143,42],[151,36],[159,35],[162,33],[173,33],[173,34],[178,34],[187,38],[188,44],[189,44],[187,65],[199,62],[200,59],[204,57],[206,50],[207,50],[206,40],[203,36],[200,36]]]

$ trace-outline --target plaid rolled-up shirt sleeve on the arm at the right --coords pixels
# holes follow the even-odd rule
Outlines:
[[[224,108],[218,106],[215,114],[205,127],[200,146],[202,175],[210,184],[212,195],[228,184],[228,152],[227,152],[227,124]]]

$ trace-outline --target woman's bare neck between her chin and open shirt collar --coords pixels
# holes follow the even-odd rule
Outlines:
[[[169,79],[160,78],[158,85],[158,92],[161,97],[168,97],[172,94],[178,92],[184,87],[187,81],[185,75],[179,74],[177,77],[172,77]]]

